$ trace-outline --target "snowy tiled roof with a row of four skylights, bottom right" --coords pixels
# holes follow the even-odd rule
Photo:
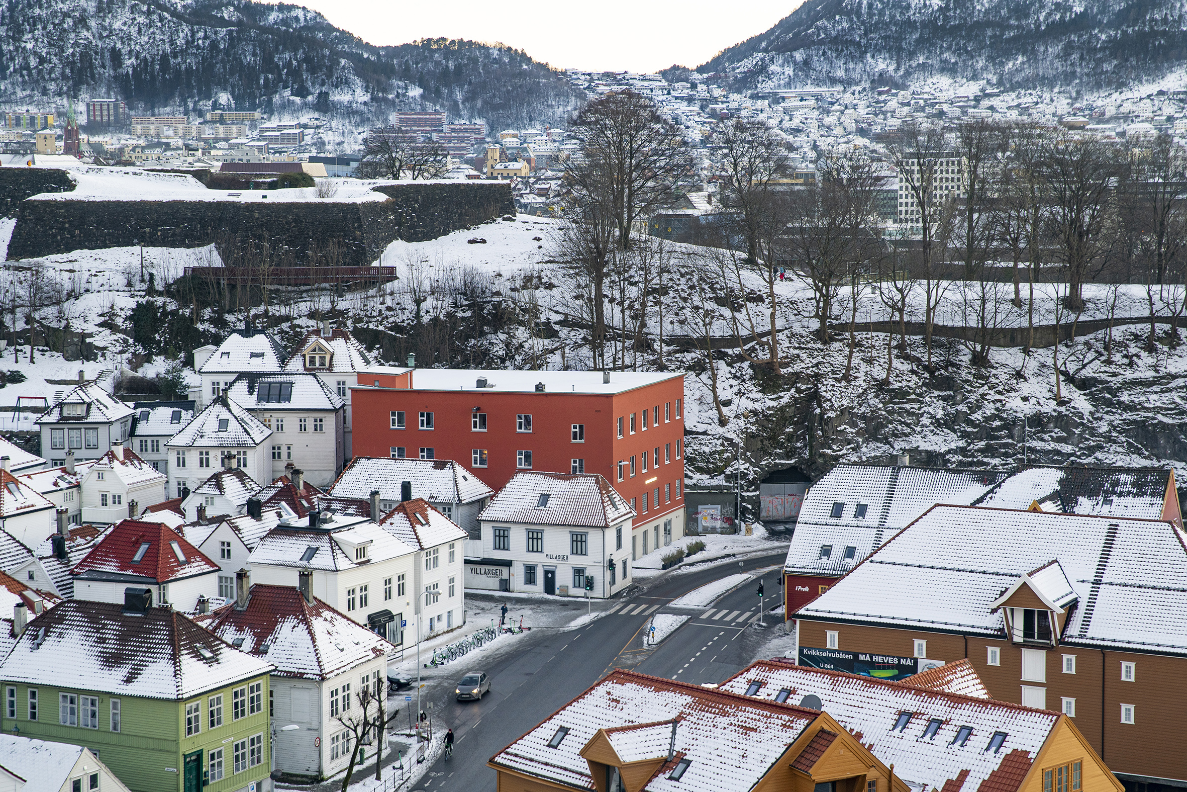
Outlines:
[[[1004,771],[1016,768],[1020,761],[1026,762],[1023,768],[1029,767],[1060,718],[1058,712],[1021,704],[783,663],[755,663],[724,682],[721,690],[744,693],[755,682],[762,686],[754,697],[764,701],[774,701],[783,689],[791,691],[788,703],[817,696],[821,710],[859,733],[870,752],[883,764],[894,765],[895,775],[915,788],[942,790],[946,781],[961,774],[966,778],[960,788],[985,788],[982,784],[996,773],[999,785],[994,786],[995,792],[1011,792],[1026,773],[1015,777]],[[910,717],[896,729],[903,712]],[[933,720],[941,722],[940,728],[934,739],[923,739]],[[953,742],[963,727],[972,729],[967,741]],[[1005,741],[997,750],[988,750],[997,731],[1005,733]]]

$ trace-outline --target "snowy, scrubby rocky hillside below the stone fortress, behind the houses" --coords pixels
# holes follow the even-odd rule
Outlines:
[[[514,222],[491,221],[430,242],[394,242],[379,262],[398,266],[400,280],[344,292],[278,289],[267,305],[259,296],[252,299],[252,317],[272,325],[286,343],[294,343],[317,321],[331,319],[393,362],[414,351],[418,366],[429,367],[584,368],[589,329],[577,304],[579,290],[551,258],[557,232],[556,221],[521,215]],[[0,228],[0,247],[6,233]],[[964,343],[938,340],[929,372],[922,338],[908,337],[900,353],[888,349],[884,334],[862,329],[863,321],[884,318],[867,290],[858,296],[846,378],[848,332],[821,344],[814,321],[807,318],[811,297],[795,281],[780,283],[776,294],[782,375],[747,362],[728,343],[713,351],[717,397],[728,419],[721,426],[707,359],[688,335],[690,318],[706,310],[697,303],[693,287],[704,277],[694,268],[700,251],[675,245],[668,252],[671,278],[678,286],[665,306],[664,365],[688,372],[691,481],[721,481],[723,475],[732,481],[740,446],[743,477],[751,484],[763,473],[788,464],[819,475],[837,462],[887,462],[908,452],[913,464],[1167,464],[1181,479],[1187,476],[1187,344],[1181,330],[1160,325],[1153,351],[1144,324],[1117,327],[1111,355],[1104,349],[1105,330],[1062,344],[1061,399],[1056,399],[1053,349],[1027,356],[1017,348],[996,348],[989,365],[978,367],[970,363]],[[58,382],[72,379],[80,368],[88,376],[101,370],[116,376],[139,367],[141,375],[152,376],[170,356],[189,365],[193,347],[221,338],[242,322],[246,306],[240,297],[216,294],[199,310],[197,325],[190,325],[193,292],[188,290],[197,285],[186,285],[182,267],[217,266],[211,251],[145,248],[145,260],[155,283],[171,284],[165,296],[145,293],[137,248],[8,262],[18,293],[39,274],[57,297],[37,311],[42,341],[36,362],[28,362],[24,321],[23,344],[15,355],[11,348],[4,351],[0,373],[19,370],[27,379],[0,388],[0,406],[11,406],[17,395],[52,398],[62,388]],[[960,318],[959,294],[959,284],[951,285],[941,323]],[[1164,297],[1169,305],[1181,299],[1181,292]],[[1086,298],[1083,319],[1104,316],[1112,303],[1104,286],[1088,289]],[[843,292],[842,313],[849,299]],[[1144,299],[1144,287],[1122,287],[1115,316],[1141,316]],[[728,336],[725,309],[709,305],[717,311],[712,331]],[[1013,310],[1005,305],[1003,315]],[[1050,319],[1052,305],[1050,296],[1036,297],[1037,323]],[[648,344],[624,350],[627,368],[659,366],[658,317],[648,322]],[[1005,322],[1016,323],[1016,317]],[[95,361],[65,361],[52,341],[44,342],[56,338],[55,328],[63,323],[87,334]],[[190,341],[174,338],[179,325],[185,325]],[[760,351],[749,347],[751,356]]]

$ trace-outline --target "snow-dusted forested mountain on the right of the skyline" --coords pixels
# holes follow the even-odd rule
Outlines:
[[[1099,90],[1187,65],[1183,0],[807,0],[697,69],[740,87]]]

